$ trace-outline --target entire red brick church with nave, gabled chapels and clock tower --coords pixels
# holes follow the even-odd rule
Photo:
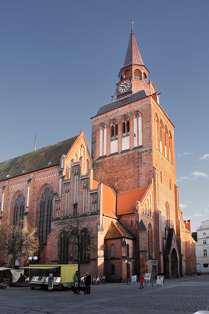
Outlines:
[[[39,263],[77,263],[63,222],[80,219],[81,274],[109,282],[151,272],[196,272],[190,221],[176,185],[174,126],[148,80],[132,30],[112,102],[92,118],[92,155],[83,131],[0,163],[0,224],[19,219],[37,228]],[[89,235],[93,248],[88,249]],[[12,257],[0,254],[0,266]],[[27,265],[17,257],[16,265]]]

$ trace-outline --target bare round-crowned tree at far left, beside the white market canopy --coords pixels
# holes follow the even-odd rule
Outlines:
[[[18,223],[3,224],[0,228],[0,252],[6,251],[13,256],[13,267],[15,268],[16,257],[22,257],[27,260],[39,248],[39,240],[36,237],[37,229],[32,228],[29,224],[23,226]]]

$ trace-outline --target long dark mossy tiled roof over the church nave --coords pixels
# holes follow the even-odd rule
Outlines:
[[[59,165],[62,155],[67,155],[77,137],[1,162],[0,181]]]

